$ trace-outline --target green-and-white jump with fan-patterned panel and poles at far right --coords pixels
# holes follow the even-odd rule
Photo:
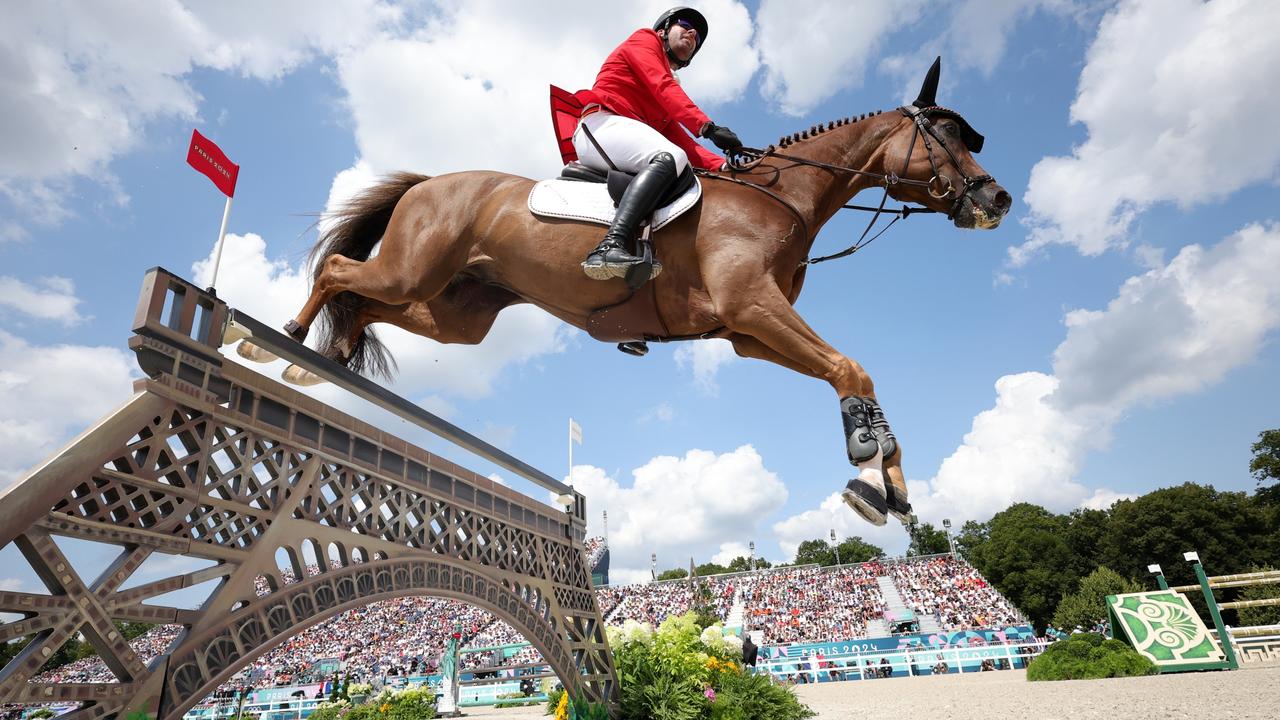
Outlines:
[[[1280,605],[1280,598],[1217,602],[1213,591],[1280,583],[1280,570],[1208,577],[1199,555],[1187,553],[1197,584],[1169,587],[1160,565],[1148,569],[1158,591],[1107,596],[1107,615],[1115,637],[1124,639],[1156,664],[1161,673],[1187,670],[1235,670],[1236,650],[1251,660],[1280,659],[1280,625],[1228,628],[1221,610]],[[1201,591],[1213,632],[1183,593]]]

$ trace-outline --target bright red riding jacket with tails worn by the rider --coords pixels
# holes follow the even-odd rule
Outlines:
[[[718,170],[724,164],[724,158],[707,150],[681,129],[682,126],[698,135],[710,119],[680,88],[671,73],[662,38],[649,28],[635,31],[609,54],[590,90],[568,94],[552,86],[552,123],[566,163],[577,159],[570,138],[581,109],[591,102],[660,132],[684,150],[696,168]]]

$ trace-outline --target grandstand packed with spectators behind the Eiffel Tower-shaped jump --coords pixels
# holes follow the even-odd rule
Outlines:
[[[603,538],[586,542],[589,566],[608,557]],[[319,568],[307,568],[310,575]],[[284,574],[284,582],[294,582]],[[886,612],[906,607],[932,632],[1002,628],[1025,620],[963,559],[950,555],[882,560],[838,568],[774,568],[756,573],[699,578],[709,591],[713,611],[728,625],[763,634],[768,646],[835,642],[888,635]],[[270,592],[264,582],[260,593]],[[662,623],[694,606],[689,579],[596,588],[600,612],[609,625],[627,620]],[[536,598],[531,598],[531,602]],[[524,638],[489,612],[457,601],[404,597],[366,605],[317,624],[259,657],[221,691],[323,682],[333,667],[352,679],[371,680],[435,670],[449,634],[460,626],[463,647],[520,643]],[[164,652],[180,628],[163,625],[132,642],[150,660]],[[466,656],[465,666],[490,665],[492,653]],[[532,647],[504,662],[540,662]],[[96,659],[45,673],[40,682],[113,682]]]

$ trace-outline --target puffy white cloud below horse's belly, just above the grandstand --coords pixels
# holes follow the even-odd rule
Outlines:
[[[589,498],[588,536],[603,534],[600,511],[609,512],[614,583],[648,579],[650,553],[658,555],[659,570],[685,568],[690,555],[705,562],[724,543],[755,536],[760,519],[787,498],[750,445],[658,456],[631,475],[623,487],[599,468],[573,466],[573,486]]]

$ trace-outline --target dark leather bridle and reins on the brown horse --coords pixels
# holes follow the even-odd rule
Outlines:
[[[818,263],[826,263],[827,260],[837,260],[840,258],[847,258],[847,256],[852,255],[854,252],[858,252],[863,247],[867,247],[868,245],[870,245],[870,242],[874,241],[876,238],[878,238],[879,236],[884,234],[884,231],[887,231],[888,228],[893,227],[893,223],[896,223],[896,222],[899,222],[899,220],[901,220],[901,219],[904,219],[904,218],[906,218],[909,215],[915,215],[915,214],[919,214],[919,213],[937,213],[938,211],[938,210],[933,210],[931,208],[915,208],[915,206],[910,206],[910,205],[902,205],[901,208],[884,208],[884,204],[888,201],[890,188],[892,188],[896,184],[910,184],[910,186],[915,186],[915,187],[922,187],[922,188],[925,190],[925,192],[929,193],[931,197],[933,197],[936,200],[942,200],[942,199],[946,199],[946,197],[948,197],[951,195],[955,195],[955,201],[951,204],[951,208],[947,210],[947,215],[946,215],[948,220],[954,220],[955,217],[956,217],[956,213],[960,211],[960,208],[964,204],[964,200],[972,192],[974,192],[977,188],[982,187],[983,184],[986,184],[988,182],[995,182],[995,178],[992,178],[989,174],[977,176],[977,177],[969,177],[968,174],[965,174],[964,169],[960,167],[960,163],[959,163],[959,160],[955,156],[955,152],[952,152],[951,147],[947,145],[947,141],[943,137],[938,136],[937,129],[934,129],[933,122],[931,119],[932,114],[943,114],[943,115],[947,115],[947,117],[956,117],[957,118],[959,115],[956,115],[955,111],[947,110],[946,108],[940,108],[937,105],[931,105],[928,108],[916,108],[915,105],[904,105],[904,106],[899,108],[897,110],[902,115],[910,118],[911,122],[915,126],[914,129],[913,129],[913,132],[911,132],[911,145],[908,146],[908,149],[906,149],[906,160],[902,163],[902,172],[900,174],[895,174],[892,172],[890,172],[890,173],[872,173],[872,172],[867,172],[867,170],[860,170],[858,168],[850,168],[850,167],[846,167],[846,165],[835,165],[832,163],[822,163],[819,160],[809,160],[808,158],[799,158],[799,156],[790,155],[790,154],[786,154],[786,152],[780,152],[778,149],[774,147],[773,145],[771,145],[771,146],[768,146],[768,147],[765,147],[763,150],[754,149],[754,147],[741,147],[736,154],[733,154],[732,156],[730,156],[730,170],[735,176],[737,173],[744,173],[744,172],[749,172],[749,170],[754,169],[756,165],[759,165],[762,161],[764,161],[767,158],[777,158],[780,160],[788,160],[788,161],[794,163],[795,165],[808,165],[810,168],[823,168],[823,169],[835,170],[835,172],[840,172],[840,173],[850,173],[850,174],[855,174],[855,176],[863,176],[863,177],[874,178],[878,184],[883,184],[884,186],[884,193],[881,196],[879,205],[877,205],[876,208],[870,208],[870,206],[867,206],[867,205],[847,205],[847,204],[840,206],[841,210],[863,210],[863,211],[868,211],[868,213],[874,213],[872,215],[870,222],[867,223],[867,228],[863,229],[863,233],[858,237],[858,241],[855,241],[849,247],[841,250],[840,252],[835,252],[832,255],[823,255],[820,258],[809,258],[806,260],[801,260],[800,261],[800,266],[817,265]],[[961,178],[963,184],[961,184],[961,188],[960,188],[959,192],[956,192],[955,186],[951,182],[951,179],[938,172],[938,164],[937,164],[937,159],[934,158],[933,142],[931,142],[931,138],[932,138],[932,141],[937,141],[938,146],[941,146],[942,150],[946,151],[947,159],[951,160],[952,167],[955,167],[956,172],[960,173],[960,178]],[[901,176],[905,176],[906,172],[911,167],[911,155],[915,152],[915,143],[916,143],[916,141],[922,141],[924,143],[924,151],[928,154],[928,158],[929,158],[929,169],[932,170],[933,174],[932,174],[932,177],[927,182],[925,181],[916,181],[916,179],[910,179],[910,178],[901,177]],[[739,163],[737,160],[740,158],[745,158],[746,161]],[[795,167],[795,165],[791,165],[791,167]],[[786,169],[786,168],[778,168],[780,172],[783,170],[783,169]],[[797,210],[795,208],[795,205],[792,205],[787,199],[782,197],[777,192],[773,192],[769,188],[759,186],[756,183],[751,183],[751,182],[746,182],[746,181],[739,179],[737,177],[724,177],[724,176],[718,174],[718,173],[707,173],[707,172],[699,172],[699,174],[701,174],[703,177],[708,177],[708,178],[714,178],[714,179],[722,179],[722,181],[733,182],[736,184],[742,184],[742,186],[746,186],[746,187],[751,187],[751,188],[759,190],[760,192],[764,192],[765,195],[768,195],[773,200],[777,200],[783,206],[786,206],[791,211],[791,214],[794,214],[796,217],[796,219],[800,220],[800,227],[804,231],[804,237],[809,238],[809,228],[808,228],[808,224],[804,220],[804,215],[800,213],[800,210]],[[877,232],[874,236],[872,236],[870,238],[868,238],[867,236],[876,227],[876,223],[879,222],[879,217],[881,215],[886,215],[886,214],[888,214],[888,215],[896,215],[896,217],[892,220],[890,220],[890,223],[887,225],[884,225],[883,228],[881,228],[879,232]]]

